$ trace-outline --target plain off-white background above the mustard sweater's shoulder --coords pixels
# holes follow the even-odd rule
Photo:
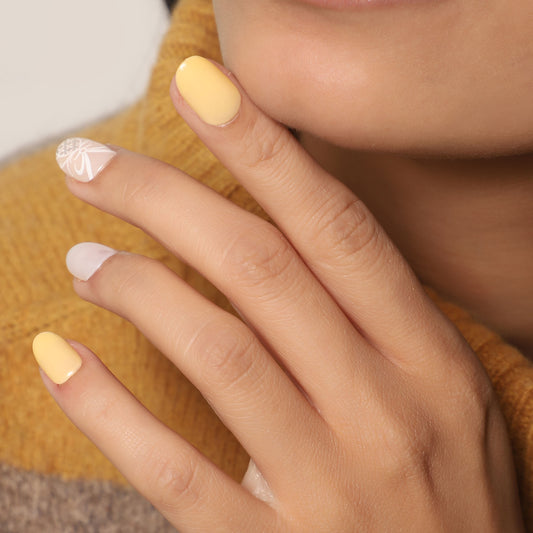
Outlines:
[[[137,100],[163,0],[0,0],[0,163]]]

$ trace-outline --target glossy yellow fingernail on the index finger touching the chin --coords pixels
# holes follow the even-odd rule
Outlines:
[[[186,59],[176,72],[176,85],[184,100],[211,126],[222,126],[235,118],[241,93],[211,61],[200,56]]]

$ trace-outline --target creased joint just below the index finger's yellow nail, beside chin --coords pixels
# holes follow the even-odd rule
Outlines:
[[[261,114],[254,114],[248,121],[241,140],[242,161],[251,169],[279,164],[285,159],[288,132],[272,128]]]

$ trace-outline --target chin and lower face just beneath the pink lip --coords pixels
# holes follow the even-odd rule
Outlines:
[[[517,46],[503,13],[448,4],[431,24],[396,17],[377,31],[369,19],[345,31],[309,20],[294,31],[287,17],[269,23],[246,9],[229,11],[219,20],[227,66],[259,107],[288,126],[361,150],[533,149],[532,40],[524,31]]]

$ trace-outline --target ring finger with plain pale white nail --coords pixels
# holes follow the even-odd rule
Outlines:
[[[86,278],[102,253],[101,268],[75,281],[78,294],[144,332],[214,406],[275,490],[276,473],[286,477],[294,456],[311,456],[302,453],[307,443],[326,438],[317,412],[240,320],[159,262],[82,243],[69,252],[69,269]]]

